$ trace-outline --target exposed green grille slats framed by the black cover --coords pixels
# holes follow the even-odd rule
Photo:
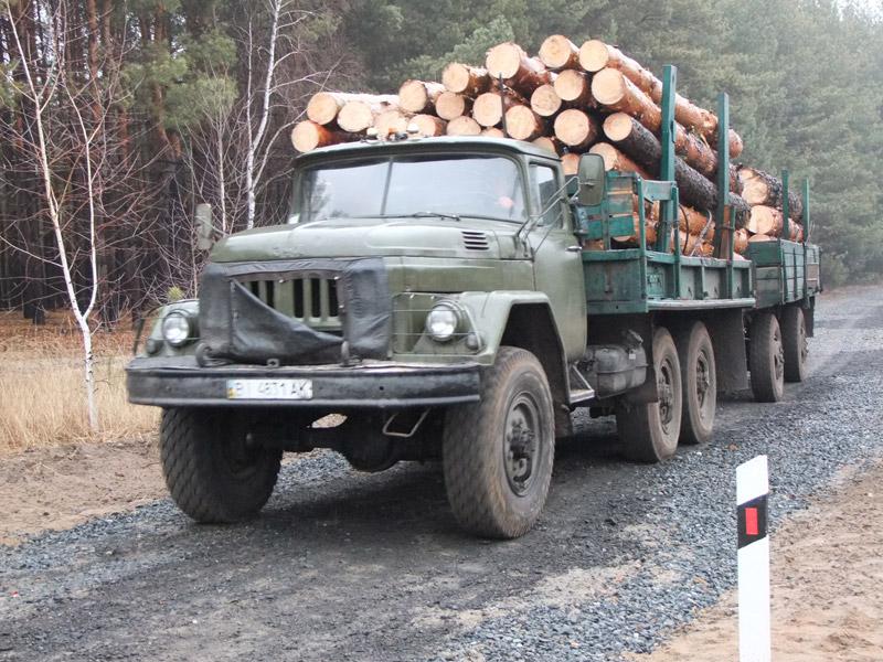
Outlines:
[[[243,285],[269,308],[308,327],[340,329],[337,278],[247,280]]]

